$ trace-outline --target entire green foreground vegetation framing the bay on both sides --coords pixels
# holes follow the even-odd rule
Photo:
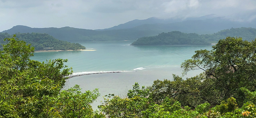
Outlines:
[[[0,52],[0,117],[9,118],[241,118],[256,117],[256,41],[227,37],[213,49],[195,51],[181,64],[183,79],[156,80],[152,86],[135,83],[127,97],[105,96],[99,111],[90,104],[99,90],[78,85],[63,90],[72,68],[67,59],[30,60],[34,47],[14,35]]]

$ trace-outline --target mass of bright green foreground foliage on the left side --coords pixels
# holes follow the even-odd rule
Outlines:
[[[81,92],[78,85],[61,91],[72,68],[67,59],[30,60],[34,47],[7,38],[0,52],[0,117],[91,117],[90,104],[99,92]]]

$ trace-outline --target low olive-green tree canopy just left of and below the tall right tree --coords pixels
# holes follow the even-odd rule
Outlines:
[[[164,81],[156,80],[152,86],[148,87],[149,97],[159,104],[166,97],[173,98],[179,101],[182,106],[191,108],[196,108],[196,106],[206,102],[218,104],[220,98],[212,87],[212,81],[204,79],[204,75],[200,74],[186,78],[186,80],[176,75],[173,75],[173,81],[167,79],[164,79]]]

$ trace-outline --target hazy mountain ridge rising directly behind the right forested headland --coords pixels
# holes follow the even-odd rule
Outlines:
[[[144,24],[134,27],[132,29],[144,30],[159,30],[163,32],[181,31],[185,33],[197,33],[197,34],[212,34],[223,29],[239,27],[253,27],[256,28],[256,22],[237,22],[229,21],[227,19],[216,17],[205,20],[188,20],[183,22],[174,22],[169,24]]]

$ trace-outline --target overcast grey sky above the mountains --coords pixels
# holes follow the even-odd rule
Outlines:
[[[216,14],[245,22],[256,0],[0,0],[0,32],[16,25],[105,29],[134,19]]]

